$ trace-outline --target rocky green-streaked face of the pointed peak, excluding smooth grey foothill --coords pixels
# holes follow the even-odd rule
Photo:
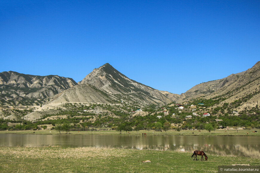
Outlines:
[[[116,101],[127,103],[137,102],[140,106],[168,104],[179,98],[178,94],[159,91],[131,80],[108,63],[98,69],[94,69],[78,84],[89,84],[107,93],[110,98]]]

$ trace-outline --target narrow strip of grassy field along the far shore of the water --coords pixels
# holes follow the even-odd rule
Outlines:
[[[256,133],[253,133],[253,131],[257,131]],[[130,134],[126,133],[126,131],[122,131],[121,135],[142,135],[143,133],[146,133],[147,135],[198,135],[198,136],[260,136],[260,130],[254,129],[254,130],[248,130],[248,129],[239,129],[238,131],[236,129],[217,129],[215,131],[212,131],[209,133],[207,130],[181,130],[180,132],[175,130],[168,130],[163,132],[156,132],[153,130],[140,130],[137,134],[136,131],[131,131]],[[57,130],[19,130],[19,131],[0,131],[1,133],[17,133],[17,134],[59,134],[59,131]],[[248,134],[247,134],[248,133]],[[61,131],[61,134],[65,134],[64,131]],[[116,130],[103,130],[103,129],[97,129],[97,131],[70,131],[70,134],[74,135],[120,135],[120,133]]]

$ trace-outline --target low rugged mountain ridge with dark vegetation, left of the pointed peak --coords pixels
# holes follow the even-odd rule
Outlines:
[[[8,71],[0,73],[0,103],[7,105],[39,105],[77,83],[57,75],[37,76]]]

